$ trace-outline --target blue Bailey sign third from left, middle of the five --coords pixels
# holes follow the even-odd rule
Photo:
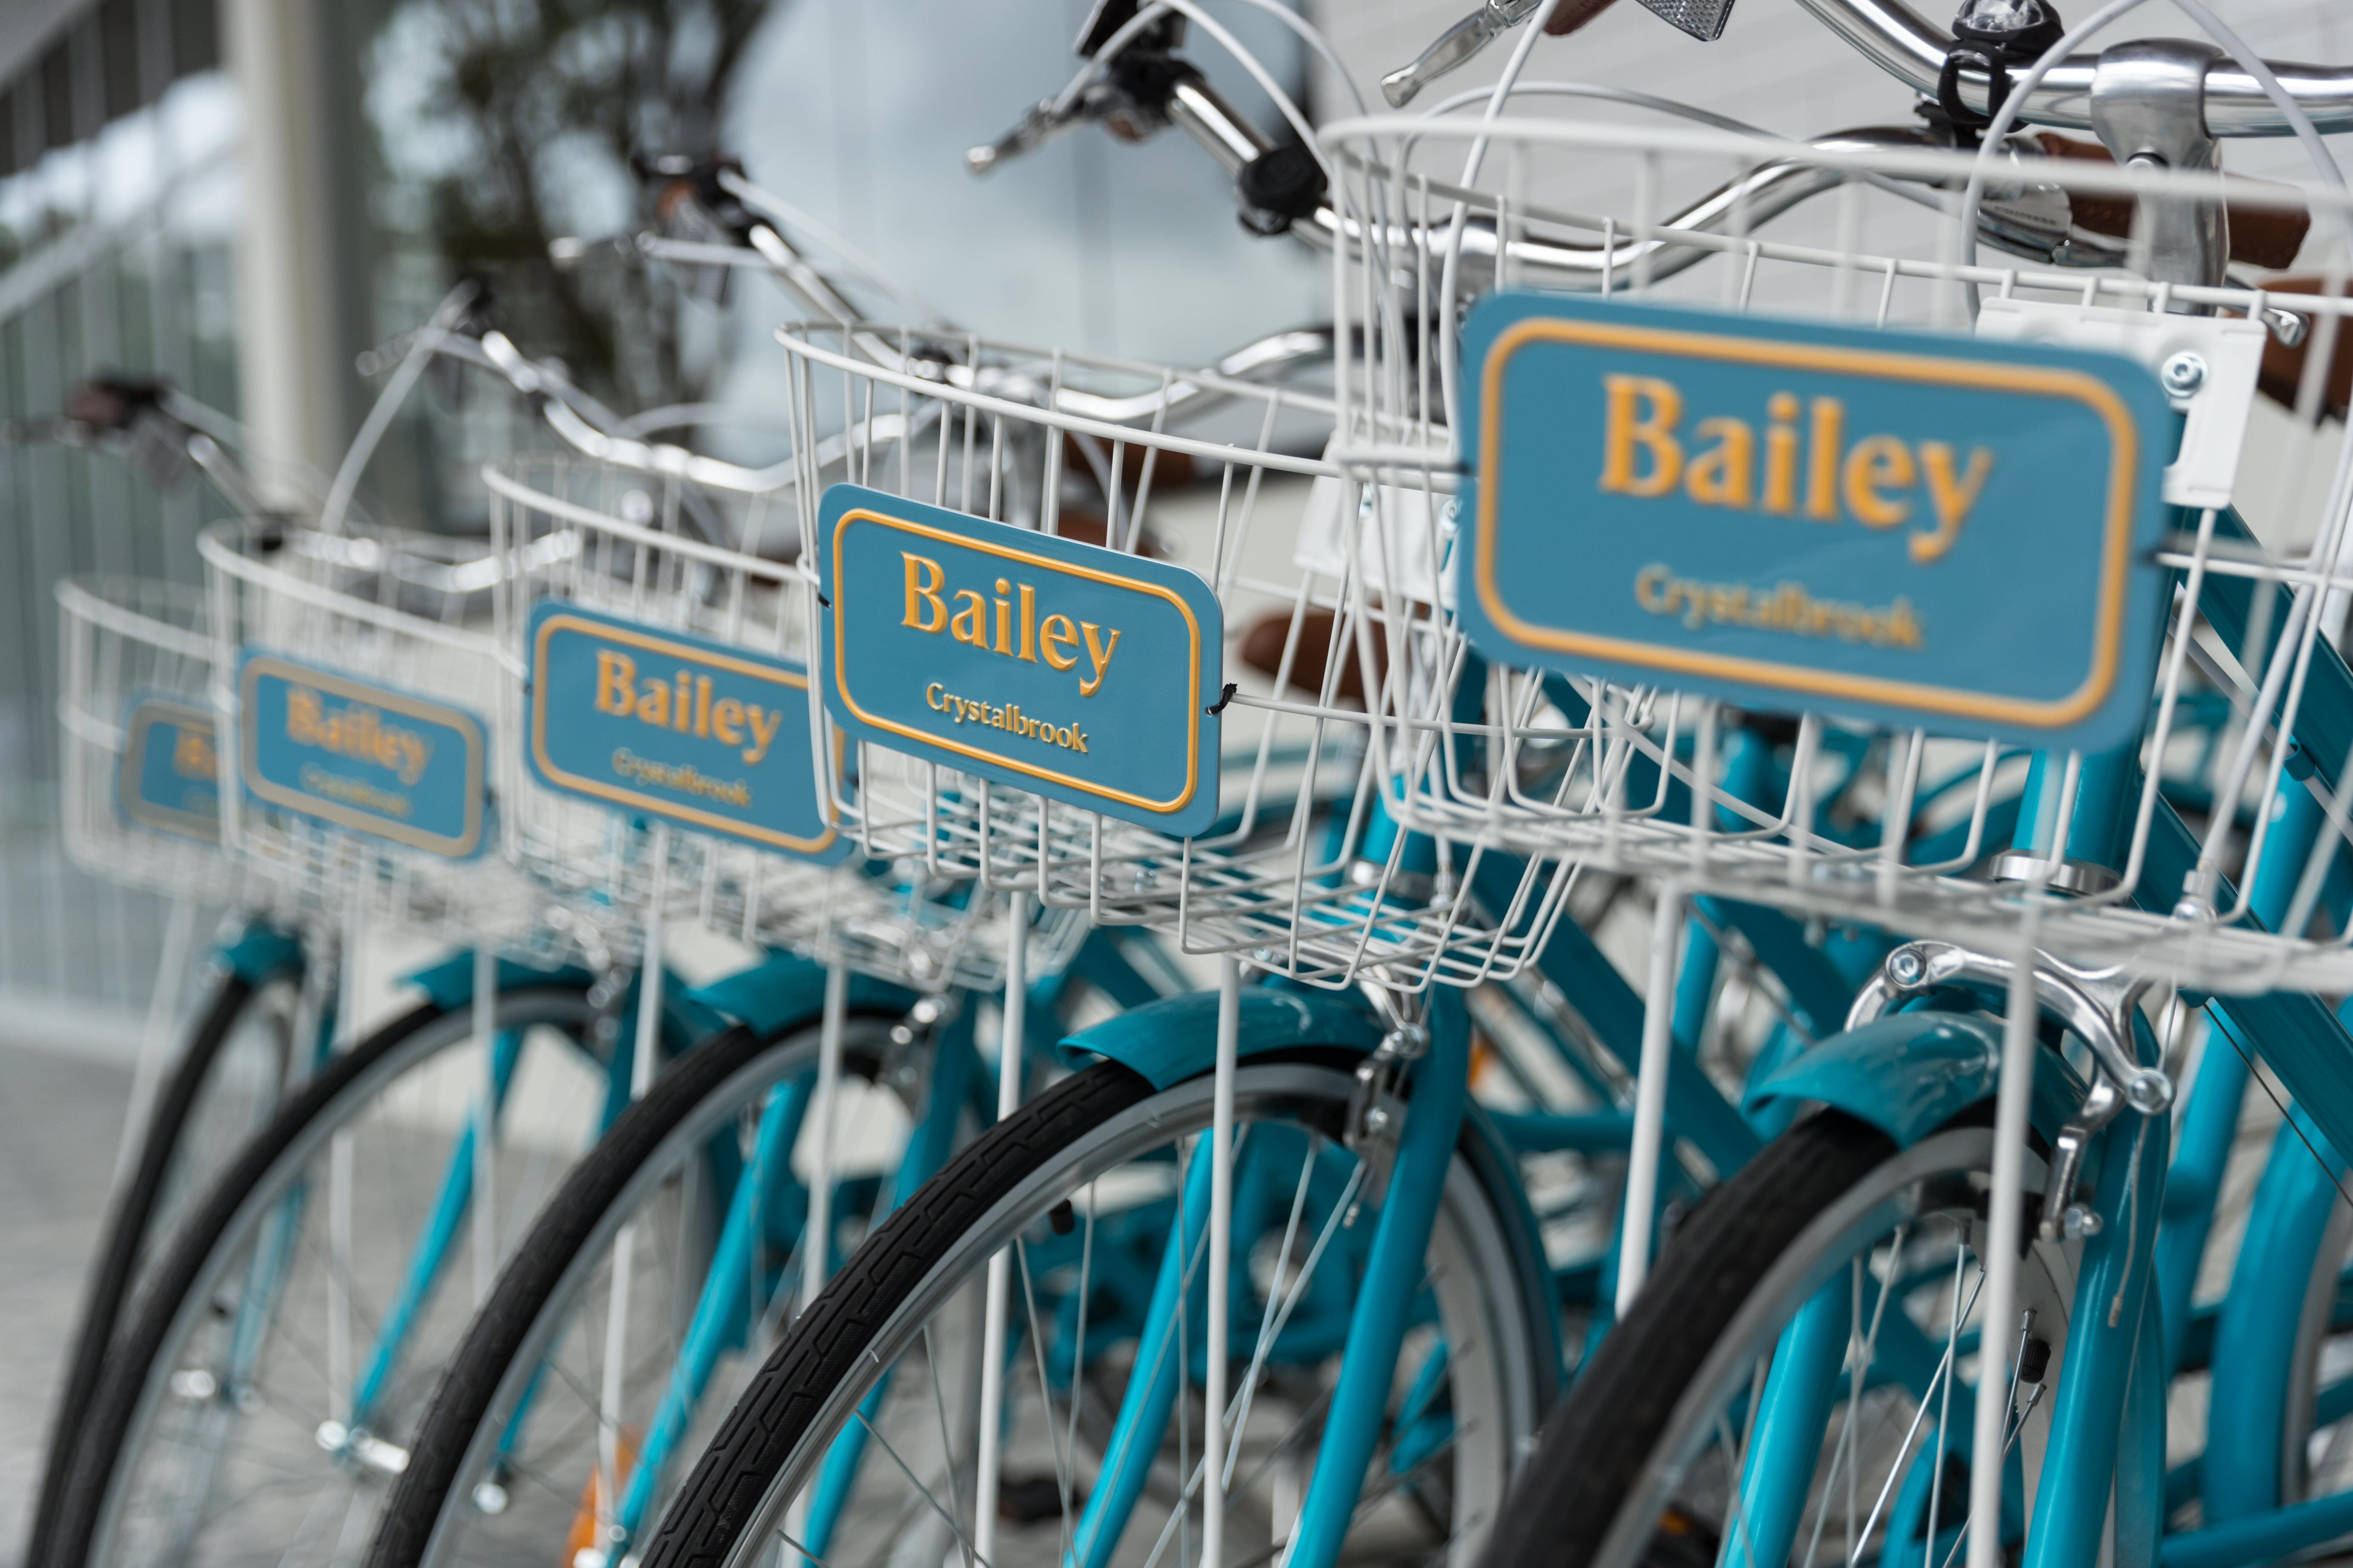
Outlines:
[[[809,764],[800,665],[562,599],[544,599],[529,632],[544,785],[788,856],[849,856]]]

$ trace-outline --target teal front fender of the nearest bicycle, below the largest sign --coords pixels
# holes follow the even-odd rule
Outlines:
[[[1833,1034],[1748,1091],[1755,1114],[1779,1103],[1814,1103],[1868,1121],[1911,1147],[1960,1112],[1993,1098],[2002,1065],[2002,1020],[1974,1013],[1889,1013]],[[2082,1105],[2082,1079],[2045,1051],[2035,1063],[2031,1119],[2045,1138]]]

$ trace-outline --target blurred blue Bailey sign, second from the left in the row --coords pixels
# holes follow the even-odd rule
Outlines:
[[[464,708],[247,651],[240,764],[254,799],[402,849],[485,849],[489,731]]]

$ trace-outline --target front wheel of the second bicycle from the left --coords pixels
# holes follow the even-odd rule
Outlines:
[[[626,1093],[598,1023],[581,980],[499,994],[489,1204],[473,1194],[468,1001],[426,1001],[322,1067],[155,1265],[89,1406],[49,1563],[355,1554],[489,1286],[475,1222],[487,1208],[494,1244],[518,1234]]]

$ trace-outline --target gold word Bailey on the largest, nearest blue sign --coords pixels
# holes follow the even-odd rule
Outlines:
[[[1602,376],[1602,397],[1605,494],[1659,498],[1680,489],[1699,505],[1809,522],[1852,517],[1866,529],[1918,520],[1906,548],[1922,567],[1960,541],[1993,473],[1986,447],[1962,463],[1948,442],[1847,442],[1847,404],[1838,397],[1814,397],[1802,433],[1798,395],[1767,397],[1762,451],[1758,430],[1729,414],[1701,418],[1685,440],[1682,390],[1664,376]]]

